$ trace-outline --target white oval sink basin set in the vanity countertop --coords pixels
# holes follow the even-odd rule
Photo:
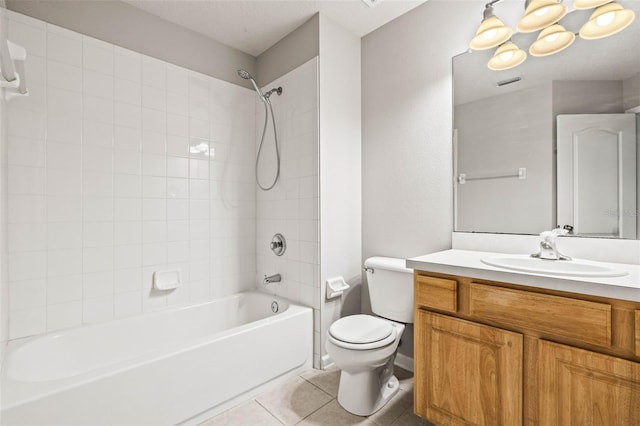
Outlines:
[[[481,259],[482,263],[513,271],[572,277],[621,277],[626,271],[606,263],[587,260],[545,260],[527,255],[497,256]]]

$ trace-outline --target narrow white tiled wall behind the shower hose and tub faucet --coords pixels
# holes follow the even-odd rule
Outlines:
[[[271,95],[280,148],[280,179],[270,191],[257,190],[257,277],[281,274],[282,282],[260,290],[312,306],[314,310],[314,366],[320,358],[320,221],[318,58],[267,84],[263,91],[282,87]],[[256,141],[264,125],[264,106],[256,97]],[[258,146],[256,145],[256,152]],[[269,121],[258,176],[269,186],[276,173],[272,123]],[[269,243],[281,233],[287,241],[284,255],[274,255]]]

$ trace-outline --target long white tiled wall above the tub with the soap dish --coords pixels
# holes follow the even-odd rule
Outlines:
[[[255,94],[9,17],[30,91],[9,104],[10,338],[253,288]]]

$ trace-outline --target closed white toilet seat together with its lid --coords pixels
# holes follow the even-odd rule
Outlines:
[[[346,349],[376,349],[395,341],[396,329],[391,322],[378,317],[350,315],[331,324],[327,337]]]

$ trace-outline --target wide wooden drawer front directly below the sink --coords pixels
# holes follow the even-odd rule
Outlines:
[[[611,346],[611,305],[472,283],[469,313],[544,335]]]

